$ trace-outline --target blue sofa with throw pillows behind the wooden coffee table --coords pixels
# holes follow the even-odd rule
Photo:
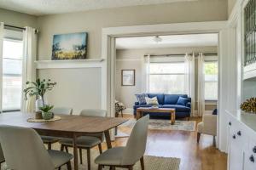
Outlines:
[[[188,97],[187,94],[147,94],[148,98],[157,97],[159,108],[174,108],[176,110],[176,117],[177,118],[184,118],[190,116],[191,111],[191,98]],[[177,105],[177,100],[179,97],[189,99],[187,105]],[[139,102],[135,102],[133,106],[133,114],[136,116],[137,108],[139,107],[151,107],[152,105],[139,105]],[[144,113],[149,114],[150,117],[168,117],[170,118],[169,114],[166,113]]]

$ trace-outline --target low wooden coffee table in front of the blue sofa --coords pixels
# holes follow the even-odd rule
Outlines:
[[[137,120],[143,116],[143,112],[153,112],[153,113],[166,113],[171,116],[171,124],[175,123],[175,109],[173,108],[152,108],[152,107],[139,107],[137,108],[136,117]]]

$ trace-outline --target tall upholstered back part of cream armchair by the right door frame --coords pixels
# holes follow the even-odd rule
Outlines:
[[[202,133],[217,135],[217,116],[212,114],[205,114],[203,116]]]

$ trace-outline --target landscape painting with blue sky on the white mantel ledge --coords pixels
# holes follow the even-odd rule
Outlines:
[[[54,35],[51,59],[85,59],[87,32]]]

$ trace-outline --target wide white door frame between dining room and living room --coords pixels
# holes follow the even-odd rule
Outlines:
[[[114,82],[115,82],[115,38],[117,37],[137,37],[137,36],[153,36],[153,35],[177,35],[177,34],[199,34],[199,33],[218,33],[218,56],[221,62],[225,55],[229,55],[230,48],[228,37],[228,22],[227,21],[209,21],[209,22],[188,22],[188,23],[174,23],[174,24],[160,24],[160,25],[143,25],[143,26],[120,26],[102,28],[102,58],[104,64],[102,66],[102,109],[108,111],[108,116],[114,116]],[[223,65],[224,66],[224,65]],[[228,68],[233,71],[234,68]],[[227,71],[225,69],[225,71]],[[228,77],[227,73],[220,72],[219,82],[223,80],[221,77]],[[231,82],[232,83],[232,82]],[[236,84],[236,81],[234,82]],[[218,99],[223,101],[224,95],[235,95],[236,92],[225,92],[229,88],[225,83],[219,83]],[[222,105],[218,104],[218,107]],[[226,105],[226,104],[224,104]],[[223,111],[226,107],[219,107],[218,110]],[[224,136],[226,132],[223,131],[225,116],[218,114],[218,135],[217,146],[220,150],[227,151],[227,144],[225,139],[218,138]],[[221,133],[221,134],[220,134]]]

